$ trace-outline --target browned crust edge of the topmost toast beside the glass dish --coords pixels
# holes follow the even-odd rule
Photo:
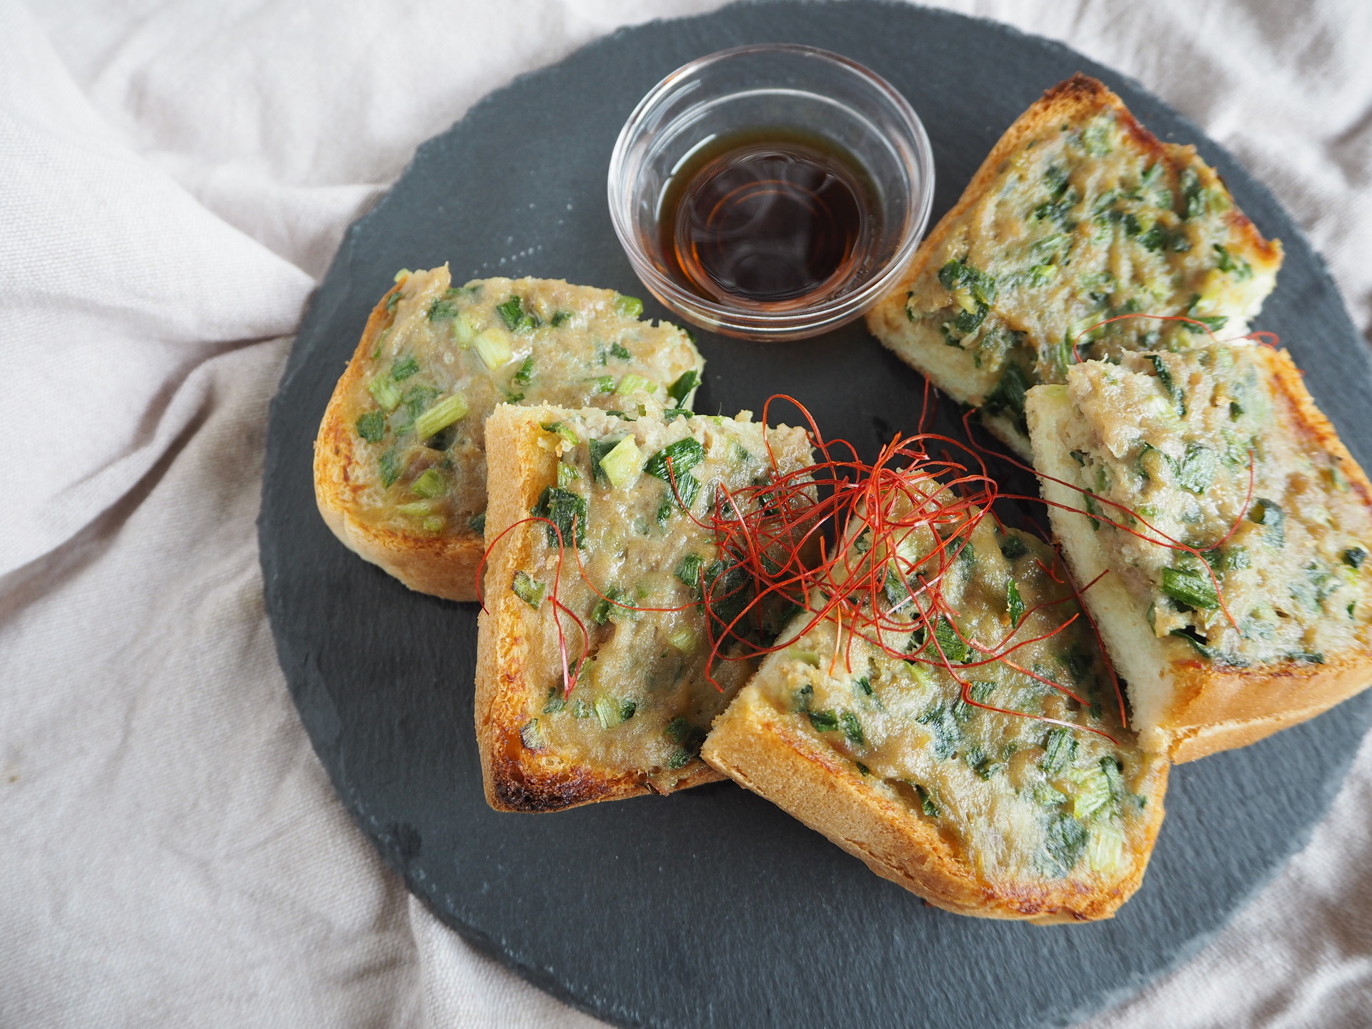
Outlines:
[[[1039,100],[1006,129],[1006,133],[996,141],[996,145],[991,148],[986,159],[981,162],[977,174],[967,182],[967,188],[962,191],[958,203],[938,220],[934,230],[919,244],[919,250],[915,251],[915,257],[901,277],[900,284],[867,313],[867,331],[916,372],[932,379],[934,386],[955,401],[973,405],[981,402],[980,398],[958,390],[955,376],[943,373],[945,369],[941,368],[943,362],[938,359],[941,357],[940,347],[897,346],[895,343],[910,325],[910,320],[906,316],[906,295],[914,281],[925,273],[929,261],[943,246],[944,237],[952,232],[962,215],[981,200],[992,182],[995,182],[996,176],[1000,174],[1000,166],[1025,140],[1036,136],[1047,125],[1083,119],[1106,107],[1111,107],[1118,113],[1121,126],[1144,150],[1152,151],[1159,159],[1168,159],[1173,165],[1191,162],[1195,147],[1161,143],[1157,136],[1148,132],[1133,117],[1129,108],[1125,107],[1124,100],[1110,92],[1103,82],[1077,73],[1072,78],[1052,86],[1052,89],[1045,91]],[[1213,180],[1213,182],[1224,185],[1220,176],[1209,165],[1202,162],[1202,166],[1206,169],[1203,174],[1207,178],[1207,184]],[[1242,235],[1244,254],[1250,263],[1261,269],[1273,270],[1281,265],[1280,241],[1264,239],[1262,233],[1258,232],[1257,226],[1238,206],[1231,206],[1227,220]],[[1008,418],[984,417],[982,424],[1021,457],[1028,458],[1030,456],[1029,440]]]

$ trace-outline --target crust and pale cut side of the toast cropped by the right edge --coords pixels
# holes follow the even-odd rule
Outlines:
[[[1372,510],[1372,483],[1314,406],[1290,354],[1257,347],[1254,355],[1272,376],[1275,399],[1284,402],[1291,424],[1338,460],[1350,488]],[[1072,417],[1070,401],[1061,391],[1034,387],[1026,410],[1044,498],[1076,508],[1080,504],[1076,491],[1044,477],[1072,480],[1073,465],[1054,445],[1059,427]],[[1055,535],[1067,543],[1063,553],[1078,582],[1091,582],[1109,568],[1084,514],[1051,506],[1050,517]],[[1104,576],[1085,600],[1096,611],[1102,637],[1131,690],[1136,685],[1152,689],[1152,679],[1170,683],[1166,711],[1158,724],[1140,727],[1140,741],[1179,764],[1257,742],[1328,711],[1372,683],[1372,653],[1361,649],[1327,654],[1324,664],[1288,661],[1250,668],[1210,664],[1180,641],[1154,637],[1118,575]],[[1133,661],[1126,657],[1140,650],[1146,656]],[[1140,674],[1150,665],[1154,675]],[[1139,709],[1137,701],[1135,707]]]

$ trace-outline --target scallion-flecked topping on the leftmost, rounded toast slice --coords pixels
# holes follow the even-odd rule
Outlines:
[[[347,398],[346,424],[355,431],[350,514],[372,524],[428,535],[477,531],[484,421],[498,403],[637,410],[670,390],[678,390],[672,401],[689,403],[700,381],[687,335],[638,321],[642,303],[609,289],[534,279],[453,287],[446,266],[403,272],[397,281],[388,324],[359,358],[365,373]],[[615,375],[606,375],[606,355]],[[427,510],[414,506],[417,497]]]

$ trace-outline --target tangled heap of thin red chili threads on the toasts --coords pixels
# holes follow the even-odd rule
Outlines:
[[[809,442],[820,456],[819,461],[790,472],[781,471],[767,428],[774,401],[785,401],[801,412],[809,427]],[[1080,598],[1074,587],[1070,587],[1070,579],[1061,579],[1052,569],[1044,567],[1051,579],[1067,584],[1072,593],[1026,611],[993,648],[969,639],[962,632],[955,622],[958,611],[944,595],[944,578],[962,560],[962,549],[969,545],[970,535],[981,519],[989,516],[999,524],[993,504],[1002,495],[975,445],[969,446],[949,436],[923,431],[932,406],[927,383],[925,401],[919,420],[921,431],[906,438],[893,435],[881,449],[875,462],[867,464],[847,440],[826,440],[803,403],[783,395],[770,398],[763,407],[763,438],[771,465],[767,482],[740,490],[729,490],[720,483],[705,516],[697,517],[681,504],[682,495],[672,461],[670,457],[665,461],[672,498],[693,524],[711,534],[719,554],[718,561],[723,568],[707,582],[707,571],[701,567],[697,579],[698,600],[672,606],[646,606],[613,600],[590,582],[580,553],[573,546],[582,580],[597,598],[627,611],[674,612],[701,606],[709,638],[705,674],[716,689],[722,689],[713,676],[716,661],[759,660],[789,646],[794,638],[831,619],[837,631],[830,674],[836,670],[840,654],[845,657],[845,667],[852,667],[852,646],[856,639],[862,639],[892,657],[944,668],[959,685],[963,701],[971,707],[1084,729],[1114,740],[1089,726],[997,708],[971,696],[971,686],[960,671],[993,664],[1024,646],[1062,632],[1076,622],[1076,615],[1050,632],[1011,642],[1034,612]],[[940,447],[941,456],[932,456],[932,447]],[[954,454],[959,454],[960,460],[955,460]],[[590,653],[590,632],[584,622],[560,598],[565,552],[561,530],[546,517],[520,519],[509,525],[483,554],[477,568],[477,583],[480,586],[482,568],[491,549],[516,527],[534,521],[553,525],[557,536],[558,561],[549,600],[558,634],[564,694],[569,694],[584,670]],[[575,516],[572,534],[575,539]],[[929,546],[921,543],[919,553],[910,557],[901,552],[901,545],[911,539],[923,541]],[[866,547],[859,550],[859,543],[863,541]],[[818,561],[807,560],[808,552],[812,550],[819,552]],[[1054,565],[1056,564],[1055,561]],[[730,575],[734,569],[742,569],[745,575]],[[899,587],[889,583],[890,576],[896,576]],[[729,580],[734,584],[724,587],[723,583]],[[746,600],[738,613],[726,620],[719,606],[740,593],[748,594]],[[785,643],[771,645],[763,645],[746,635],[744,628],[746,623],[760,627],[764,608],[781,608],[783,604],[794,605],[808,613],[809,617],[799,632],[788,634]],[[569,660],[567,631],[561,623],[563,612],[575,622],[582,634],[582,648],[575,661]],[[947,623],[963,646],[984,654],[982,660],[955,665],[944,653],[936,631],[941,622]],[[921,632],[923,643],[915,653],[910,653],[911,648],[906,641],[915,639]],[[892,637],[897,637],[896,643],[892,642]],[[930,649],[937,657],[930,656]],[[1022,670],[1014,663],[1007,661],[1007,664],[1028,678],[1062,691],[1078,704],[1084,702],[1062,683]],[[1106,664],[1109,665],[1109,657]],[[1126,715],[1118,687],[1117,700],[1122,720]]]

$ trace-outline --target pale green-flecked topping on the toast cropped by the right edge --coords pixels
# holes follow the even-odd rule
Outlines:
[[[1074,486],[1158,637],[1239,667],[1372,641],[1367,501],[1253,347],[1092,361],[1066,388]]]

